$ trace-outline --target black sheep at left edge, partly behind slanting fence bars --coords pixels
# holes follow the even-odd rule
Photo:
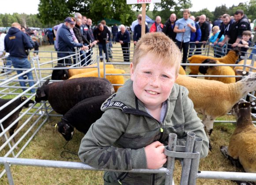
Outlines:
[[[8,101],[12,99],[0,99],[0,106],[3,106]],[[4,118],[7,114],[9,114],[11,111],[13,111],[16,107],[18,107],[20,104],[22,104],[24,101],[27,100],[26,96],[22,96],[19,99],[15,100],[11,104],[9,104],[7,107],[5,107],[3,110],[0,111],[0,119]],[[33,100],[29,100],[26,104],[24,104],[22,107],[20,107],[17,111],[15,111],[12,115],[10,115],[4,122],[2,122],[4,129],[7,128],[7,126],[11,125],[12,122],[14,122],[19,117],[19,112],[22,110],[22,108],[28,108],[32,104],[34,104]],[[12,126],[9,129],[10,137],[14,133],[14,130],[17,128],[18,123],[15,123],[14,126]],[[3,130],[0,128],[0,132]]]

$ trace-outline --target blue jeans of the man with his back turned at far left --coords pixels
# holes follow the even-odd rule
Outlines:
[[[20,69],[31,68],[30,62],[27,58],[10,56],[10,59],[14,68],[20,68]],[[21,74],[22,72],[23,72],[22,70],[17,70],[17,74]],[[26,75],[29,80],[33,80],[32,71],[26,73]],[[19,77],[19,80],[24,80],[24,79],[25,79],[24,76]],[[19,84],[22,87],[26,87],[25,81],[20,81]],[[34,82],[29,81],[29,85],[30,87],[33,86]],[[22,90],[25,91],[26,89],[22,89]],[[31,89],[30,92],[35,93],[35,89]]]

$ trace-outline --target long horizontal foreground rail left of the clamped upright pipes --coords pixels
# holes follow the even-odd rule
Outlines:
[[[42,159],[22,159],[11,157],[0,157],[0,164],[8,162],[9,164],[22,165],[22,166],[34,166],[34,167],[51,167],[51,168],[67,168],[77,170],[94,170],[94,171],[119,171],[119,172],[132,172],[132,173],[147,173],[147,174],[166,174],[167,169],[162,167],[157,170],[152,169],[132,169],[132,170],[110,170],[110,169],[96,169],[79,162],[68,161],[54,161],[54,160],[42,160]]]

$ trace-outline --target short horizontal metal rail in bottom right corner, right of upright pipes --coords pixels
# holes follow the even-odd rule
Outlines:
[[[256,174],[226,171],[199,171],[197,173],[197,178],[224,179],[236,181],[256,181]]]

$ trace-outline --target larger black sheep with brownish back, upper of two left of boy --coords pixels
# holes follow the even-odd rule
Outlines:
[[[78,102],[93,96],[114,93],[113,85],[105,78],[74,78],[48,84],[37,89],[35,100],[48,100],[54,111],[64,115]]]

